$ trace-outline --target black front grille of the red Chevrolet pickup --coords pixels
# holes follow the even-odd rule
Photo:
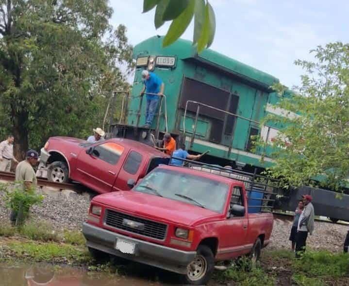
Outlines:
[[[140,229],[135,229],[135,228],[126,226],[125,224],[123,224],[124,220],[129,220],[129,221],[144,224],[144,228],[140,230]],[[166,224],[140,218],[133,215],[126,215],[116,211],[106,210],[106,214],[104,216],[104,222],[106,225],[120,229],[120,230],[137,233],[140,235],[144,235],[144,236],[159,239],[159,240],[164,240],[166,237],[166,231],[167,231]]]

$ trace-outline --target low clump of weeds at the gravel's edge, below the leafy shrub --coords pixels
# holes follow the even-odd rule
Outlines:
[[[60,241],[58,234],[46,222],[29,222],[23,225],[20,234],[32,240]]]

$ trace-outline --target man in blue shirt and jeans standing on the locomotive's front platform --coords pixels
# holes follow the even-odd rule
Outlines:
[[[154,72],[144,70],[142,72],[142,79],[144,87],[140,95],[143,95],[144,93],[147,95],[146,125],[144,125],[144,127],[149,128],[153,122],[160,96],[164,95],[165,85],[161,78],[158,77]]]

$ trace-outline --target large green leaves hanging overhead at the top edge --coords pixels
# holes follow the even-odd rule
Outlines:
[[[216,32],[216,17],[208,0],[144,0],[143,13],[155,6],[156,29],[166,21],[172,21],[163,41],[164,47],[182,36],[193,18],[193,45],[197,45],[199,53],[212,45]]]

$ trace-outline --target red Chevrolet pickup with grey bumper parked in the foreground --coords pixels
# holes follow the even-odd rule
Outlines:
[[[243,182],[160,165],[131,191],[91,201],[83,235],[93,256],[145,263],[205,284],[216,261],[250,254],[257,260],[269,243],[271,213],[249,214]]]

